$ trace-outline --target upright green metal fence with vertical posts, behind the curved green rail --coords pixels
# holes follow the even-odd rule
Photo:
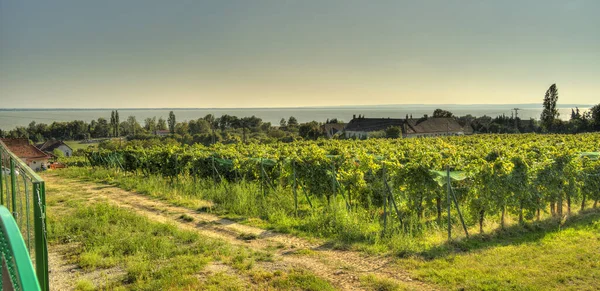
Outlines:
[[[41,290],[48,290],[46,187],[44,180],[0,141],[0,204],[12,214],[35,267]],[[21,270],[19,270],[20,272]]]

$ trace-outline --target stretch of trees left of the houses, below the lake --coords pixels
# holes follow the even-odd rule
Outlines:
[[[337,119],[327,121],[337,123]],[[141,123],[135,116],[121,121],[118,110],[111,111],[110,119],[100,117],[91,122],[74,120],[52,122],[51,124],[32,121],[28,126],[17,126],[10,131],[0,130],[0,137],[28,138],[32,142],[58,140],[89,140],[126,137],[129,140],[160,139],[167,135],[180,143],[213,144],[218,142],[269,142],[293,141],[300,138],[317,139],[324,135],[322,123],[311,121],[299,123],[291,116],[282,118],[279,126],[264,122],[256,116],[237,117],[208,114],[198,119],[177,122],[173,111],[167,119],[149,117]]]

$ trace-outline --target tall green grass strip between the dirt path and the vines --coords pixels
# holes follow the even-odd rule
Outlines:
[[[417,217],[403,217],[402,229],[395,213],[388,213],[387,228],[384,229],[381,208],[357,206],[348,211],[341,195],[329,203],[325,198],[310,196],[314,206],[310,207],[304,194],[298,191],[299,206],[296,212],[291,189],[263,191],[256,182],[214,183],[210,179],[196,180],[189,176],[170,179],[90,167],[62,169],[55,173],[69,178],[114,184],[174,205],[216,213],[283,233],[324,238],[336,248],[411,256],[431,253],[431,250],[447,246],[445,212],[441,224],[436,221],[435,214],[431,214],[431,219],[426,223]],[[452,215],[453,238],[462,240],[465,235],[458,215],[454,210]],[[512,222],[510,217],[507,221],[509,225]],[[493,221],[487,221],[485,226],[487,233],[498,228]],[[523,227],[526,226],[520,226],[521,229]],[[476,224],[469,231],[471,234],[477,233]]]

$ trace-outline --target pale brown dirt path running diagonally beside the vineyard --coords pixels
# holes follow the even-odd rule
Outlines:
[[[397,281],[412,290],[435,289],[391,268],[388,266],[391,260],[386,257],[332,250],[319,242],[309,242],[295,236],[241,225],[216,215],[173,206],[109,185],[65,179],[55,175],[46,175],[44,178],[50,185],[61,184],[83,189],[96,198],[105,198],[119,207],[131,209],[154,221],[171,223],[182,229],[193,230],[207,237],[258,251],[275,249],[275,259],[266,266],[269,269],[307,269],[343,290],[361,290],[359,278],[369,274]]]

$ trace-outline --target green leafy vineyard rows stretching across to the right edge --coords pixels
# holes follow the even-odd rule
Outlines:
[[[446,223],[448,235],[468,235],[488,220],[504,227],[595,208],[598,151],[600,134],[476,135],[127,147],[71,164],[164,179],[232,214],[372,241]]]

